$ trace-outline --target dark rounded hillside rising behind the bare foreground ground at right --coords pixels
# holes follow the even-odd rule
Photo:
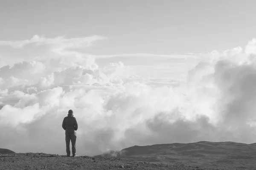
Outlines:
[[[255,169],[256,144],[206,141],[188,144],[154,144],[128,147],[119,152],[111,151],[98,156],[108,158],[116,156],[133,161],[180,163],[208,168]]]

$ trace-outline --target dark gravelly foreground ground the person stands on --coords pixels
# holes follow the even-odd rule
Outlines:
[[[46,153],[11,153],[0,155],[0,170],[220,170],[192,167],[189,164],[158,164],[123,159]]]

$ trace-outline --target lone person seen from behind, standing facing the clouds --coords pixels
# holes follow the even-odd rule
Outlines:
[[[78,129],[78,123],[72,110],[69,110],[67,116],[64,117],[62,128],[65,130],[67,156],[70,156],[70,140],[72,144],[72,155],[76,156],[76,130]]]

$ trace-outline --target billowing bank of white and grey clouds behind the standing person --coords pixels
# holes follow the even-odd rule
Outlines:
[[[95,56],[79,51],[103,39],[0,41],[13,50],[48,45],[44,55],[0,68],[0,147],[65,154],[61,123],[69,109],[79,122],[78,155],[133,145],[256,141],[255,39],[244,50],[198,54],[182,82],[143,79],[118,60],[99,67]]]

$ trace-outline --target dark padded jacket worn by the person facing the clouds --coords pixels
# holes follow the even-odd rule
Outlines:
[[[75,130],[78,129],[78,123],[76,121],[76,118],[73,117],[73,115],[68,114],[63,119],[62,128],[66,130],[67,133],[74,133]]]

